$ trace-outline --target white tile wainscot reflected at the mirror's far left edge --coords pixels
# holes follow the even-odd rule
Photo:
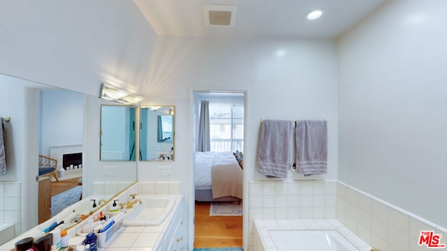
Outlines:
[[[13,223],[15,235],[22,229],[22,184],[20,182],[0,183],[0,223]]]

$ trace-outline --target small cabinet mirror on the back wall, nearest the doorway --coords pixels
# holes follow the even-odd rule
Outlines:
[[[174,114],[174,106],[140,106],[140,160],[174,160]]]

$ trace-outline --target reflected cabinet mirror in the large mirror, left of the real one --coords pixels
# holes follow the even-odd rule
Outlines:
[[[135,107],[101,105],[101,161],[135,161]]]

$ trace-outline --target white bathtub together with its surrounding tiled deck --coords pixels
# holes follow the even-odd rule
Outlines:
[[[252,250],[371,250],[338,220],[254,220]]]

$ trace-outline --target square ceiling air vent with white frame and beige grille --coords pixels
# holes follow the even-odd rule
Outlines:
[[[237,6],[221,4],[203,5],[205,26],[235,26]]]

